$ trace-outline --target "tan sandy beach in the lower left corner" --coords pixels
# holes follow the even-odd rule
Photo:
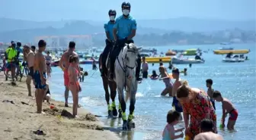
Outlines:
[[[26,77],[23,78],[25,79]],[[113,132],[104,130],[101,122],[83,108],[78,108],[79,118],[72,119],[72,107],[63,107],[64,103],[60,101],[50,101],[55,105],[54,109],[50,109],[50,105],[44,102],[43,110],[46,114],[37,114],[36,101],[34,97],[27,96],[25,82],[17,82],[17,86],[11,86],[10,81],[4,80],[3,73],[0,73],[0,139],[120,139]],[[5,100],[13,101],[14,104]],[[34,134],[38,129],[42,130],[44,135]]]

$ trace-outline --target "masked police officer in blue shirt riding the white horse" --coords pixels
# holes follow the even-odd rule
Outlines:
[[[110,75],[108,77],[110,81],[114,80],[114,62],[116,61],[118,54],[124,47],[124,44],[133,43],[133,37],[136,36],[137,23],[136,20],[132,16],[130,16],[130,3],[123,2],[121,7],[123,15],[117,17],[113,30],[115,45],[113,51],[110,54]],[[140,67],[141,58],[140,55],[138,54],[136,67],[137,81],[142,80],[141,78],[139,78]]]

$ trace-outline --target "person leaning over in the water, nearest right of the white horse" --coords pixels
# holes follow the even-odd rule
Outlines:
[[[165,66],[162,64],[162,62],[160,63],[160,66],[159,66],[159,73],[160,73],[159,74],[160,80],[162,79],[163,82],[165,82],[165,89],[162,91],[161,95],[165,96],[169,93],[169,96],[171,96],[171,91],[172,91],[171,79],[167,73]]]

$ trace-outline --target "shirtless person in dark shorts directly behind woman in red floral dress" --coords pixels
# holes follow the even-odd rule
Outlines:
[[[172,106],[175,107],[175,110],[181,113],[183,112],[183,110],[180,102],[176,98],[177,89],[182,85],[181,79],[180,79],[180,71],[177,68],[174,68],[172,70],[172,76],[175,79],[174,86],[172,88],[172,96],[173,96]]]

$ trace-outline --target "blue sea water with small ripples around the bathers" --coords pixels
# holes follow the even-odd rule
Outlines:
[[[222,58],[225,55],[213,54],[213,50],[223,45],[184,45],[184,46],[158,46],[158,53],[166,52],[168,49],[188,49],[200,48],[208,53],[203,53],[205,64],[192,64],[192,67],[185,65],[174,65],[180,70],[187,68],[187,76],[181,73],[181,79],[187,79],[191,87],[206,90],[206,79],[213,79],[213,89],[222,92],[225,98],[229,98],[238,110],[238,120],[235,124],[236,132],[219,130],[219,134],[225,140],[253,140],[256,138],[256,48],[254,44],[230,45],[235,49],[250,49],[249,61],[241,63],[223,63]],[[187,56],[184,56],[187,57]],[[149,74],[152,70],[158,72],[158,65],[149,64]],[[106,116],[107,105],[104,98],[104,89],[100,72],[91,70],[91,65],[82,65],[84,70],[88,70],[88,76],[85,82],[81,82],[82,92],[79,93],[79,104],[93,114]],[[165,64],[168,67],[168,64]],[[171,70],[168,70],[171,73]],[[59,67],[53,67],[52,77],[49,79],[50,90],[53,98],[64,101],[63,75]],[[138,86],[135,106],[136,128],[131,132],[118,132],[121,138],[125,140],[160,140],[162,139],[162,130],[166,124],[166,114],[171,110],[172,98],[161,97],[160,93],[165,89],[165,84],[159,80],[143,79]],[[69,94],[69,102],[72,103],[72,95]],[[118,104],[116,98],[116,104]],[[129,113],[129,103],[127,103],[126,114]],[[222,107],[216,103],[217,126],[219,126],[222,117]],[[107,119],[101,117],[104,125],[110,128],[122,126],[121,119]],[[226,118],[226,122],[227,122]],[[176,126],[184,127],[184,123]],[[113,129],[115,130],[115,129]],[[181,138],[180,138],[181,139]],[[184,139],[184,138],[182,138]]]

